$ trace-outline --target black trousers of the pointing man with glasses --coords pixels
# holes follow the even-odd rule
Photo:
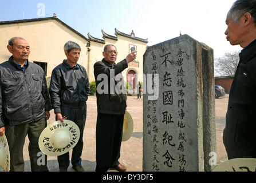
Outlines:
[[[124,114],[98,113],[96,125],[96,172],[119,165]]]

